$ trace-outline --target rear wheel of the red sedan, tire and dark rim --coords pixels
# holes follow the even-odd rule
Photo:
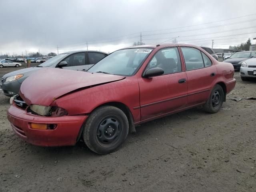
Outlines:
[[[208,113],[216,113],[220,110],[224,101],[224,91],[220,85],[215,85],[212,89],[210,97],[203,105],[203,108]]]

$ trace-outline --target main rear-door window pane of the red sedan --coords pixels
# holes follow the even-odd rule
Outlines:
[[[182,47],[181,50],[185,59],[186,70],[193,70],[204,67],[204,62],[200,50],[190,47]]]

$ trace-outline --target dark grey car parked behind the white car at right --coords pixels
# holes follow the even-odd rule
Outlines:
[[[256,55],[256,51],[236,52],[226,59],[225,62],[231,63],[235,70],[239,70],[243,61],[250,59]]]

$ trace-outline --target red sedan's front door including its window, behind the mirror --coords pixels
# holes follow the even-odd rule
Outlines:
[[[145,71],[154,67],[162,68],[164,74],[138,80],[142,121],[174,112],[187,104],[187,76],[182,71],[178,48],[159,50]]]

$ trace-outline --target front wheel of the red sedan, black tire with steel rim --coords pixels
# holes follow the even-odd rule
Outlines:
[[[83,138],[93,152],[108,154],[124,143],[128,131],[128,119],[122,110],[114,106],[102,106],[86,120]]]

